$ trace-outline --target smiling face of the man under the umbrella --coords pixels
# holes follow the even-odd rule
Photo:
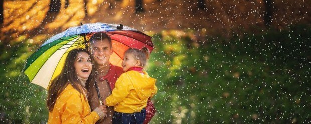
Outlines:
[[[110,55],[113,53],[108,39],[96,40],[90,43],[91,54],[97,65],[108,65]]]

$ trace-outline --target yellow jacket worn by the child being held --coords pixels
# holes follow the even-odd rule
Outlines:
[[[106,104],[114,106],[116,112],[140,112],[146,107],[148,98],[156,93],[156,79],[149,77],[145,71],[131,70],[118,78],[112,94],[106,98]]]

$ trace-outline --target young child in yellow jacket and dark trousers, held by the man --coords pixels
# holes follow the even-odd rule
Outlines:
[[[112,94],[104,100],[104,105],[114,106],[112,123],[143,123],[148,98],[157,93],[156,79],[143,71],[148,57],[147,48],[125,51],[122,61],[125,73],[116,81]]]

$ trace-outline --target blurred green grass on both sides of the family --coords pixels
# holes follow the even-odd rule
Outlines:
[[[151,123],[308,123],[311,27],[198,36],[153,34],[147,71],[157,78]],[[196,35],[196,36],[195,36]],[[201,38],[198,38],[201,37]],[[0,123],[45,123],[46,90],[21,74],[38,46],[0,45]]]

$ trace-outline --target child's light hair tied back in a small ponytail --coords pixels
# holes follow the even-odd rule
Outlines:
[[[140,61],[140,66],[142,67],[146,66],[150,54],[148,48],[146,47],[143,47],[142,49],[129,48],[125,51],[124,54],[129,53],[133,54],[134,58]]]

